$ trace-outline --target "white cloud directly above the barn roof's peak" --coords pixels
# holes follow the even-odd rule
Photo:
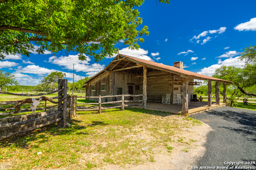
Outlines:
[[[147,56],[148,50],[144,50],[144,49],[141,49],[141,48],[139,48],[139,50],[132,50],[132,49],[129,49],[128,47],[126,47],[126,48],[123,48],[123,49],[119,50],[119,53],[123,54],[123,55],[131,56],[131,57],[135,57],[135,58],[138,58],[138,59],[154,61],[149,56]],[[106,58],[113,58],[113,57],[116,57],[116,55],[117,54],[113,55],[112,57],[106,57]]]

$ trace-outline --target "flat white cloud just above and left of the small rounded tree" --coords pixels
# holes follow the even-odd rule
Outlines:
[[[48,69],[48,68],[44,68],[36,65],[28,65],[20,70],[20,72],[23,72],[23,73],[39,74],[39,75],[49,74],[54,71],[57,71],[57,70]]]

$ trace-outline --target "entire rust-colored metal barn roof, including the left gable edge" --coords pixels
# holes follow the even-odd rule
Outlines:
[[[198,73],[195,73],[195,72],[191,72],[191,71],[188,71],[188,70],[184,70],[184,69],[181,69],[181,68],[176,68],[174,66],[168,66],[168,65],[165,65],[165,64],[160,64],[160,63],[156,63],[156,62],[153,62],[153,61],[148,61],[148,60],[143,60],[143,59],[138,59],[138,58],[135,58],[135,57],[131,57],[131,56],[128,56],[128,55],[123,55],[123,54],[119,54],[120,57],[124,57],[126,59],[131,59],[133,60],[135,63],[139,62],[139,64],[146,64],[147,66],[152,66],[152,67],[157,67],[157,69],[159,70],[164,70],[164,69],[167,69],[167,70],[170,70],[176,74],[186,74],[187,76],[195,76],[196,78],[195,79],[200,79],[202,78],[203,79],[208,79],[208,80],[212,80],[212,81],[221,81],[221,82],[227,82],[227,83],[233,83],[233,82],[230,82],[230,81],[227,81],[227,80],[222,80],[222,79],[219,79],[219,78],[214,78],[214,77],[211,77],[211,76],[205,76],[203,74],[198,74]],[[115,57],[116,58],[116,57]],[[137,61],[137,62],[136,62]],[[110,63],[111,64],[111,63]],[[84,82],[84,84],[86,84],[87,82],[90,82],[92,79],[94,79],[96,76],[99,76],[100,74],[102,74],[104,72],[105,68],[103,70],[101,70],[100,72],[98,72],[97,74],[95,74],[94,76],[92,76],[89,80],[87,80],[86,82]],[[86,86],[86,85],[84,85]],[[83,87],[84,87],[83,86]]]

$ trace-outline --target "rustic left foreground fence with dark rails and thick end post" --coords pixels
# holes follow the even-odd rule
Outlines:
[[[18,130],[14,131],[12,133],[8,133],[4,136],[0,136],[0,139],[5,139],[5,138],[13,136],[13,135],[17,135],[17,134],[20,134],[20,133],[31,131],[31,130],[34,130],[34,129],[37,129],[37,128],[40,128],[40,127],[43,127],[43,126],[46,126],[46,125],[50,125],[50,124],[55,123],[55,122],[58,123],[59,127],[63,127],[63,128],[66,127],[67,84],[68,84],[67,79],[60,79],[59,82],[58,82],[58,90],[53,91],[53,92],[49,92],[49,93],[44,93],[44,94],[34,94],[34,95],[32,95],[32,94],[14,94],[14,93],[8,93],[8,92],[0,92],[2,94],[10,94],[10,95],[15,95],[15,96],[42,96],[42,95],[52,94],[52,93],[58,92],[57,97],[50,98],[50,99],[58,99],[59,102],[62,99],[65,99],[63,101],[63,103],[61,102],[58,105],[50,106],[50,107],[46,107],[46,101],[45,101],[45,107],[36,108],[36,110],[45,110],[46,111],[46,109],[50,109],[50,108],[58,106],[58,111],[56,111],[54,113],[50,113],[49,115],[45,115],[45,116],[42,116],[42,117],[37,117],[35,119],[29,119],[29,120],[26,120],[26,121],[17,121],[17,122],[11,122],[11,123],[0,123],[0,130],[1,130],[1,128],[11,129],[13,126],[26,125],[27,123],[30,123],[28,125],[34,125],[32,127],[24,126],[25,128],[24,127],[20,128],[20,129],[16,128]],[[41,100],[41,101],[43,101],[43,100]],[[18,102],[20,102],[20,101],[0,102],[0,105],[17,104]],[[1,110],[4,110],[4,108],[1,109]],[[17,113],[23,113],[23,112],[28,112],[28,111],[32,111],[32,109],[21,109],[20,111],[16,111],[16,110],[15,111],[9,111],[9,112],[0,113],[0,115],[15,114],[15,116],[16,116]],[[53,119],[53,120],[50,120],[50,121],[46,121],[42,124],[36,125],[36,123],[38,124],[38,121],[40,123],[42,119],[45,119],[45,118],[48,118],[48,117],[50,118],[50,117],[53,117],[53,116],[57,117],[57,118]],[[45,120],[48,120],[48,119],[45,119]]]

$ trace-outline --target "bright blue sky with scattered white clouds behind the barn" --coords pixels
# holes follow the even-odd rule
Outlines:
[[[140,6],[140,17],[149,27],[150,34],[139,43],[138,51],[126,45],[116,45],[120,53],[173,66],[182,61],[186,70],[211,75],[221,64],[241,67],[239,53],[247,45],[256,45],[256,1],[172,1],[161,4],[147,0]],[[63,54],[64,55],[64,54]],[[112,58],[100,62],[79,61],[77,55],[67,60],[61,54],[52,56],[36,53],[30,57],[19,54],[6,56],[0,61],[0,69],[12,72],[21,85],[41,83],[43,76],[52,71],[66,72],[72,82],[73,63],[75,82],[85,76],[93,76]]]

